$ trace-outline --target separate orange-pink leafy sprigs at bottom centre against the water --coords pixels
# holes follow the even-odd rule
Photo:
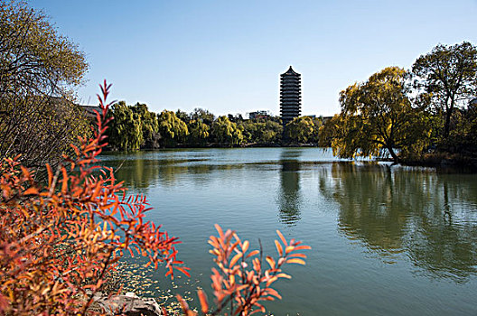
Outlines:
[[[266,256],[267,265],[264,265],[263,254],[260,250],[248,251],[248,240],[242,241],[231,230],[225,233],[219,225],[215,228],[219,237],[210,236],[212,246],[210,254],[218,266],[212,269],[212,289],[215,296],[216,308],[210,310],[209,302],[203,291],[198,292],[203,315],[217,315],[221,311],[228,311],[229,315],[251,315],[257,311],[265,312],[262,302],[281,299],[282,296],[271,285],[279,278],[291,278],[282,272],[285,264],[304,265],[306,256],[302,250],[311,249],[295,239],[287,242],[285,237],[276,230],[280,240],[275,240],[278,258]],[[250,263],[251,262],[251,263]],[[181,295],[177,295],[182,304],[182,311],[187,316],[197,315],[192,311]],[[226,312],[226,315],[228,314]]]

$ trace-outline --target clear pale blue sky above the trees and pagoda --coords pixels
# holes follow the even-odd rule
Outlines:
[[[86,52],[98,83],[155,112],[279,114],[279,74],[302,74],[302,114],[339,113],[339,92],[438,43],[477,44],[477,0],[31,0]]]

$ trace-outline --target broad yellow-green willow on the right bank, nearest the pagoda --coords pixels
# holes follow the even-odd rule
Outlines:
[[[430,128],[407,97],[409,73],[388,67],[340,93],[341,114],[334,125],[333,153],[340,157],[381,156],[386,151],[397,163],[396,149],[411,154],[426,148]],[[326,135],[322,129],[322,135]]]

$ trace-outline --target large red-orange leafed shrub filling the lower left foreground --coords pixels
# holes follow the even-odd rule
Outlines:
[[[0,163],[0,314],[85,314],[92,296],[125,251],[187,274],[176,237],[145,221],[144,196],[128,199],[110,168],[96,165],[105,144],[106,81],[92,139],[73,146],[48,183],[14,159]],[[87,289],[90,290],[87,294]],[[90,311],[88,311],[90,312]]]

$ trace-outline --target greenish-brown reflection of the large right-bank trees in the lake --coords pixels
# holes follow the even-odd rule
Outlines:
[[[333,163],[331,179],[320,189],[339,203],[346,237],[383,258],[405,252],[434,277],[461,282],[477,272],[472,182],[376,163]]]

